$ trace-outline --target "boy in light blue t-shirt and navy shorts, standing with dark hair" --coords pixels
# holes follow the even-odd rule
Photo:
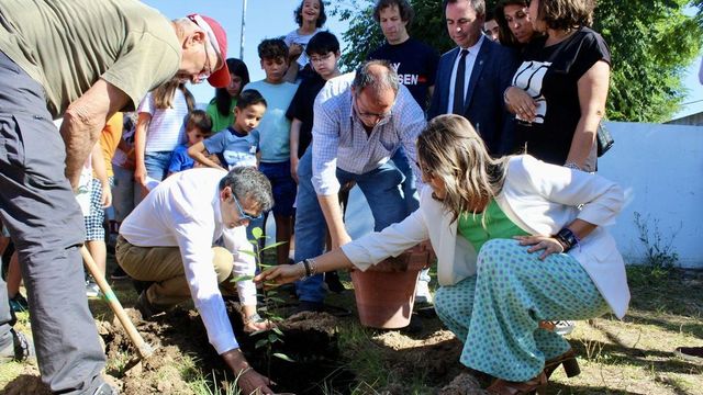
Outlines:
[[[268,103],[259,127],[252,134],[259,142],[259,170],[269,179],[274,190],[276,241],[282,242],[276,248],[277,262],[287,264],[297,185],[290,174],[290,121],[286,117],[286,111],[298,86],[283,80],[289,61],[288,46],[282,40],[264,40],[258,53],[266,78],[249,82],[243,92],[255,89]]]

